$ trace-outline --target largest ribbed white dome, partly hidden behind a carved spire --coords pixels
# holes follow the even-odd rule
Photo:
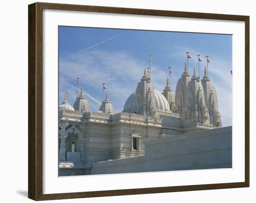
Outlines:
[[[164,95],[162,95],[162,93],[160,93],[156,89],[154,89],[154,92],[155,92],[156,109],[159,111],[170,111],[168,101],[166,100]],[[123,111],[133,112],[134,109],[135,109],[135,92],[133,92],[126,100]]]

